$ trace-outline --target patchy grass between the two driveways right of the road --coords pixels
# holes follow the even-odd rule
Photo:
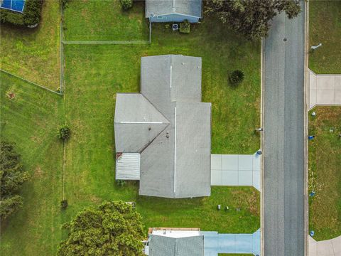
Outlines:
[[[316,116],[312,117],[311,112]],[[315,240],[341,235],[341,107],[315,107],[310,111],[309,229]]]

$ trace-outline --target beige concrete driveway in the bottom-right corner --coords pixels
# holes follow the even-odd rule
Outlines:
[[[308,248],[308,256],[340,256],[341,235],[337,238],[318,242],[308,235]]]

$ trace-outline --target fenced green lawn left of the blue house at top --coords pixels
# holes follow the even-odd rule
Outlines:
[[[72,0],[65,17],[65,41],[148,40],[144,1],[134,1],[132,9],[123,11],[119,0]]]

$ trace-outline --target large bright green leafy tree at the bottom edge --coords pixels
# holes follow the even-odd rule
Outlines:
[[[141,216],[122,201],[87,208],[63,228],[69,234],[60,243],[59,256],[143,255]]]

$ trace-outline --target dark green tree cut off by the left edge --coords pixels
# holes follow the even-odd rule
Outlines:
[[[0,177],[0,219],[4,220],[23,205],[23,198],[17,193],[29,177],[13,143],[0,142]]]

